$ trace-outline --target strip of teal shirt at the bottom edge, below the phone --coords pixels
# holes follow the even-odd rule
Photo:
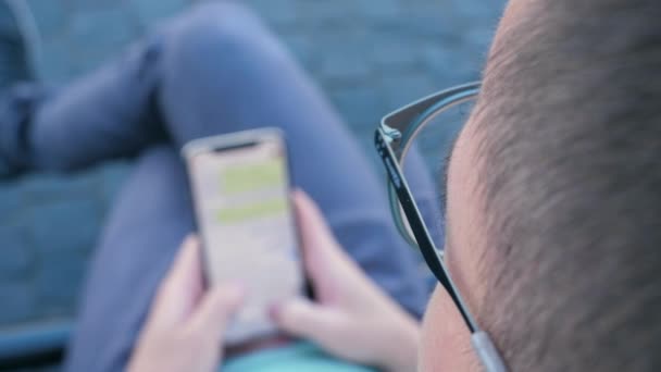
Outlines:
[[[227,360],[222,372],[375,372],[333,358],[309,343],[298,343]]]

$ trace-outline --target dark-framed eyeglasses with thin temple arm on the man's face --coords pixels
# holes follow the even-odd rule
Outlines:
[[[434,244],[402,172],[404,159],[420,133],[440,113],[474,100],[479,87],[479,83],[458,86],[403,107],[382,120],[374,138],[376,151],[388,174],[390,207],[399,232],[409,244],[420,249],[429,270],[452,298],[471,332],[473,348],[485,370],[507,372],[507,367],[489,335],[479,328],[452,282],[444,263],[442,251]]]

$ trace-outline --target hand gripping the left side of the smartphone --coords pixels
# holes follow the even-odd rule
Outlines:
[[[159,288],[128,370],[216,370],[223,332],[241,299],[241,290],[234,286],[204,292],[200,246],[188,237]]]

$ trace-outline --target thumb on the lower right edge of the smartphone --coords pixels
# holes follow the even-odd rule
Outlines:
[[[272,312],[272,318],[284,332],[322,346],[337,338],[345,324],[341,313],[301,298],[280,303]]]

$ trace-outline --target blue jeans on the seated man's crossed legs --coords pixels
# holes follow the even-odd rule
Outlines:
[[[68,171],[138,158],[96,249],[70,370],[124,368],[159,282],[194,231],[178,149],[195,138],[258,126],[286,133],[294,185],[320,204],[361,268],[409,312],[422,314],[426,287],[415,253],[391,222],[385,178],[245,8],[200,5],[96,73],[49,94],[20,87],[3,104],[14,119],[0,127],[3,150],[17,169]],[[434,185],[417,154],[410,161],[416,169],[410,182],[427,198],[423,211],[431,210]]]

